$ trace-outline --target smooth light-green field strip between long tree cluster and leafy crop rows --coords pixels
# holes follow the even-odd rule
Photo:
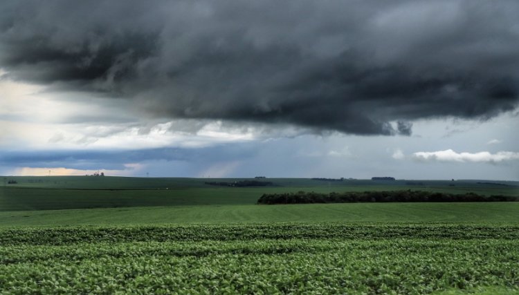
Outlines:
[[[201,205],[0,211],[0,227],[229,222],[519,222],[519,202]]]

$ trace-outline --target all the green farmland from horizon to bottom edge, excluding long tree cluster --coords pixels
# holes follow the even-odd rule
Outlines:
[[[519,196],[518,182],[8,180],[0,294],[519,292],[519,202],[255,204],[292,191]]]

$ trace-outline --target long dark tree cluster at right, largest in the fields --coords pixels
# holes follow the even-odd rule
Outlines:
[[[257,204],[311,204],[356,202],[517,202],[512,196],[482,196],[477,193],[436,193],[430,191],[352,191],[344,193],[264,194]]]

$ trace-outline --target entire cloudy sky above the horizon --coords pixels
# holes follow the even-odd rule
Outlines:
[[[1,1],[0,175],[519,180],[518,15]]]

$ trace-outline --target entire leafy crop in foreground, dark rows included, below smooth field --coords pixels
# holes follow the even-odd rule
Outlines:
[[[0,293],[430,294],[518,287],[518,226],[2,229]]]

